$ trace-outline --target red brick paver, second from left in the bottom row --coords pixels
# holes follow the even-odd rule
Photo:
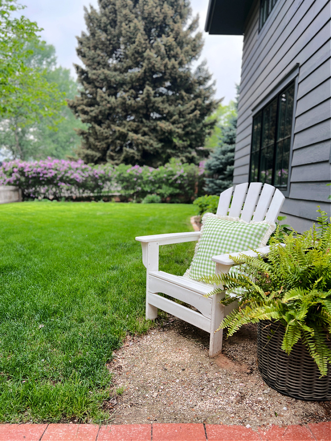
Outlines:
[[[96,441],[99,426],[93,424],[49,424],[43,441]]]

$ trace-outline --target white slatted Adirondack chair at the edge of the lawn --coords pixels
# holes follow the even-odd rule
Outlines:
[[[275,189],[272,185],[264,184],[262,192],[261,188],[262,184],[260,182],[251,183],[250,186],[248,183],[239,184],[234,191],[233,187],[229,188],[220,195],[217,214],[240,217],[246,222],[263,220],[275,222],[285,197],[280,190]],[[160,245],[197,241],[199,237],[200,232],[188,232],[139,236],[136,237],[136,240],[141,242],[143,263],[147,270],[146,319],[156,319],[157,309],[159,308],[200,329],[204,329],[204,331],[210,333],[209,356],[214,357],[222,350],[223,337],[222,331],[215,331],[223,318],[233,310],[234,306],[224,307],[221,305],[220,299],[224,297],[225,292],[214,294],[211,297],[204,297],[212,290],[210,285],[197,282],[188,277],[159,271],[158,269],[158,248]],[[268,249],[268,246],[264,246],[259,248],[258,251],[267,255]],[[242,252],[255,255],[252,250],[243,250]],[[239,253],[232,254],[238,255]],[[213,256],[212,260],[216,263],[216,274],[228,273],[230,268],[235,265],[233,260],[229,258],[229,254]],[[167,294],[181,300],[193,306],[199,312],[169,300],[158,293]]]

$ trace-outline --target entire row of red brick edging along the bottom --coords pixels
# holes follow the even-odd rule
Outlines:
[[[330,441],[331,422],[251,428],[223,424],[0,424],[0,441]]]

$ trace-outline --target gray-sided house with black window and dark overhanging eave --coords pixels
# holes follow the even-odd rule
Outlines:
[[[330,17],[326,0],[209,0],[205,25],[244,34],[233,183],[275,185],[299,231],[330,216]]]

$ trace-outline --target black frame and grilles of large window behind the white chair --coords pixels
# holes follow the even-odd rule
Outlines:
[[[271,185],[274,185],[276,188],[279,188],[280,191],[282,191],[283,194],[285,194],[285,196],[289,195],[289,186],[290,186],[290,174],[291,174],[291,160],[292,160],[292,146],[293,146],[293,136],[294,136],[294,123],[295,123],[295,109],[296,109],[296,96],[297,96],[297,86],[298,86],[298,79],[297,77],[295,77],[293,75],[293,77],[291,78],[291,81],[287,82],[287,84],[284,86],[284,83],[282,82],[282,87],[278,89],[277,93],[275,91],[274,95],[272,97],[269,97],[268,100],[263,100],[263,103],[259,106],[256,106],[255,109],[258,107],[258,110],[255,112],[255,114],[253,115],[253,123],[252,123],[252,139],[251,139],[251,154],[250,154],[250,168],[249,168],[249,181],[250,182],[263,182],[263,179],[261,179],[261,152],[263,149],[271,147],[273,148],[273,162],[272,162],[272,177],[271,177],[271,182],[267,182],[270,183]],[[277,182],[275,182],[275,178],[276,178],[276,170],[277,170],[277,164],[276,164],[276,159],[277,159],[277,144],[280,143],[280,141],[284,140],[285,138],[278,138],[279,132],[278,132],[278,126],[279,126],[279,120],[280,120],[280,99],[281,96],[286,93],[290,88],[293,88],[293,109],[292,109],[292,119],[291,119],[291,127],[290,127],[290,133],[289,135],[286,136],[286,139],[288,139],[289,142],[289,151],[288,151],[288,175],[287,175],[287,180],[286,180],[286,187],[284,185],[277,185]],[[265,132],[265,128],[263,129],[263,115],[264,115],[264,111],[268,110],[268,107],[271,108],[271,106],[273,105],[274,101],[276,100],[276,111],[275,111],[275,115],[276,115],[276,123],[274,126],[274,137],[273,137],[273,142],[269,143],[269,146],[267,145],[267,147],[262,146],[262,139],[263,139],[263,132]],[[260,122],[258,122],[258,120],[260,119]],[[270,120],[269,120],[270,122]],[[260,128],[257,130],[255,130],[256,128],[256,124],[260,124]],[[259,130],[259,133],[258,133]],[[255,142],[256,142],[256,133],[257,133],[257,139],[258,139],[258,148],[256,148],[255,146]],[[253,180],[253,176],[252,176],[252,162],[253,162],[253,157],[254,154],[258,153],[258,159],[257,159],[257,176],[255,176],[254,180]],[[256,157],[255,157],[255,161],[256,161]],[[256,163],[255,163],[256,164]],[[281,178],[282,176],[280,176]],[[281,180],[281,179],[280,179]],[[265,179],[264,179],[265,181]]]

